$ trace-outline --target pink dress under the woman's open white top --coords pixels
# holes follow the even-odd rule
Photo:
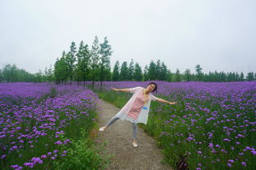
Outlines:
[[[148,101],[148,98],[146,98],[146,96],[144,94],[144,89],[141,89],[141,91],[137,95],[137,98],[135,99],[134,103],[132,104],[131,110],[128,112],[128,114],[124,120],[128,120],[132,123],[137,124],[137,117],[139,116],[139,113],[141,112],[142,107],[144,106],[145,102],[147,102],[147,101]]]

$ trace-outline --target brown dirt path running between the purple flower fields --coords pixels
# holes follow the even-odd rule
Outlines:
[[[98,124],[105,125],[119,108],[100,99]],[[106,170],[172,170],[161,163],[164,155],[160,153],[154,138],[148,136],[143,129],[137,129],[137,148],[132,146],[132,124],[127,120],[116,120],[104,132],[99,132],[95,140],[106,142],[106,152],[113,155],[110,166]]]

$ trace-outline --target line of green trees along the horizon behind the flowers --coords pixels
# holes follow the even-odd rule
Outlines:
[[[0,69],[0,82],[49,82],[56,84],[77,84],[85,81],[92,82],[92,88],[96,81],[209,81],[209,82],[227,82],[227,81],[255,81],[256,73],[249,72],[244,75],[243,72],[209,72],[203,73],[200,64],[195,66],[195,73],[186,69],[181,73],[177,68],[176,72],[171,72],[164,62],[159,59],[151,59],[150,63],[142,70],[139,63],[119,60],[115,62],[113,72],[110,68],[110,56],[113,53],[107,37],[102,43],[97,36],[94,37],[92,46],[80,41],[77,47],[74,41],[71,42],[70,50],[63,51],[61,57],[56,58],[52,68],[45,68],[44,72],[39,70],[35,74],[26,72],[24,69],[17,68],[15,64],[7,64]]]

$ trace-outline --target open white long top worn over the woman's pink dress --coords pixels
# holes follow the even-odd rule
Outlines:
[[[135,99],[137,98],[137,95],[141,90],[144,88],[141,86],[137,86],[130,89],[130,93],[133,94],[132,98],[128,100],[128,102],[124,105],[124,107],[117,113],[117,117],[119,117],[120,120],[124,120],[126,116],[128,115],[128,112],[131,110],[133,103],[135,102]],[[155,101],[158,98],[156,98],[153,94],[149,94],[149,100],[145,103],[143,107],[146,107],[147,109],[141,109],[139,116],[137,117],[137,123],[147,123],[148,119],[148,113],[150,111],[150,102],[151,100]]]

